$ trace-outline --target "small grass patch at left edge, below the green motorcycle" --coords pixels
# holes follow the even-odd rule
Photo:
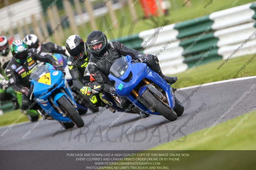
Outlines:
[[[0,116],[0,126],[12,124],[12,122],[14,122],[18,118],[19,115],[21,115],[20,109],[12,110],[7,113],[4,113],[4,115]],[[29,120],[28,120],[27,116],[24,115],[17,123],[27,122],[27,121],[29,121]]]

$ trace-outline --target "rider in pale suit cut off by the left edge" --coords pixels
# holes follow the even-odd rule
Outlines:
[[[11,59],[12,53],[10,52],[9,41],[6,36],[0,36],[0,100],[13,100],[13,108],[17,109],[19,107],[17,100],[12,94],[6,92],[9,81],[5,78],[4,69]]]

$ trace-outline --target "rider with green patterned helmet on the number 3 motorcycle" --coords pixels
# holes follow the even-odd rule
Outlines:
[[[15,92],[22,94],[21,109],[27,109],[32,101],[29,99],[33,89],[30,88],[29,77],[31,70],[37,65],[37,61],[52,64],[56,70],[63,71],[63,67],[52,55],[37,51],[35,48],[28,49],[22,40],[12,42],[12,59],[8,63],[5,73]],[[34,107],[32,107],[34,108]]]

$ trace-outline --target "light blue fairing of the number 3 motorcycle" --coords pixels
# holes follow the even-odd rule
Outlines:
[[[52,107],[52,104],[48,100],[49,96],[52,96],[54,104],[56,106],[59,106],[59,104],[57,103],[57,100],[64,95],[66,98],[68,98],[69,96],[73,100],[73,104],[75,104],[75,100],[73,98],[72,92],[68,86],[67,81],[64,78],[63,73],[58,70],[52,70],[50,68],[48,69],[51,75],[51,85],[38,83],[33,79],[30,80],[31,85],[34,85],[34,89],[33,89],[34,97],[36,98],[36,101],[39,104],[39,106],[43,108],[44,111],[49,115],[51,115],[55,120],[61,121],[61,122],[72,122],[68,117],[63,117],[62,114],[55,111],[55,109]],[[64,88],[66,93],[58,92],[57,94],[54,93],[53,95],[53,92],[55,92],[57,89],[60,89],[60,88]]]

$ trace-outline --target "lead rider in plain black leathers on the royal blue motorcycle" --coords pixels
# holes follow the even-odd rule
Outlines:
[[[113,84],[108,79],[111,65],[121,57],[121,55],[130,55],[134,60],[140,60],[142,63],[147,63],[151,70],[158,73],[167,83],[173,84],[177,81],[177,77],[165,76],[160,68],[158,58],[155,55],[141,55],[139,51],[125,47],[120,42],[109,42],[107,37],[101,31],[92,31],[87,37],[88,50],[91,51],[91,57],[88,65],[88,70],[92,77],[100,83],[100,86],[105,92],[111,95],[116,94]],[[118,97],[122,107],[128,107],[129,100],[125,97]]]

